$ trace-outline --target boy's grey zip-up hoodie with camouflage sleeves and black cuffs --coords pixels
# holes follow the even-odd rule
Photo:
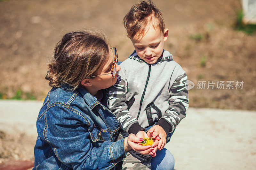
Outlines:
[[[156,63],[148,64],[134,52],[120,64],[117,82],[108,90],[109,107],[121,127],[137,134],[160,125],[168,134],[186,116],[186,72],[163,50]]]

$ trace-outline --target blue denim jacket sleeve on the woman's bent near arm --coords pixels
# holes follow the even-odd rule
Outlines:
[[[65,112],[65,114],[56,114]],[[42,117],[43,118],[43,117]],[[93,146],[88,121],[65,105],[50,107],[44,115],[44,139],[56,157],[73,169],[111,169],[124,157],[124,139]]]

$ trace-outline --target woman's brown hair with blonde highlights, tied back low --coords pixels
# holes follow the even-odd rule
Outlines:
[[[45,79],[51,87],[67,84],[73,91],[84,78],[96,76],[108,56],[109,46],[102,30],[66,33],[54,49]]]

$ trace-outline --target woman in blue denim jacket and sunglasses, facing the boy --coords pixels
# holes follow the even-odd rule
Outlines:
[[[67,33],[54,50],[45,79],[52,87],[39,112],[34,169],[111,169],[131,149],[151,146],[131,134],[115,141],[119,123],[107,106],[105,88],[120,67],[101,32]]]

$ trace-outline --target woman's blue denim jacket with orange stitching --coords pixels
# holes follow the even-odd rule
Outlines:
[[[84,88],[63,87],[52,88],[36,120],[34,169],[111,169],[125,150],[124,139],[114,142],[119,123],[105,90],[102,104]]]

